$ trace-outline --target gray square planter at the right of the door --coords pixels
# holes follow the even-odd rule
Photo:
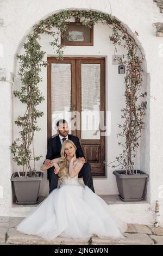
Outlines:
[[[143,191],[148,174],[141,172],[141,170],[137,170],[137,173],[126,175],[123,170],[115,170],[113,172],[116,176],[119,197],[124,202],[135,202],[143,199]]]

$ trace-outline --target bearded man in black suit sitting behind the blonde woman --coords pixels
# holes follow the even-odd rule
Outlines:
[[[54,167],[51,167],[51,160],[60,157],[61,145],[65,139],[70,139],[76,145],[76,156],[84,163],[82,169],[79,172],[79,177],[83,177],[84,184],[91,188],[95,192],[93,187],[93,179],[91,174],[90,163],[87,163],[83,154],[82,147],[79,142],[79,138],[68,134],[68,123],[64,119],[60,119],[57,122],[58,135],[54,138],[49,139],[45,165],[48,168],[48,179],[49,179],[49,193],[51,193],[58,185],[58,175],[54,174]]]

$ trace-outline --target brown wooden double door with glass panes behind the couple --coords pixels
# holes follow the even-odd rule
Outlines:
[[[54,134],[55,120],[66,119],[71,123],[70,133],[79,137],[92,175],[104,176],[105,136],[101,127],[105,126],[105,59],[64,58],[60,61],[50,57],[48,64],[48,138]],[[66,115],[70,115],[63,115],[64,108]],[[62,114],[57,116],[57,113]]]

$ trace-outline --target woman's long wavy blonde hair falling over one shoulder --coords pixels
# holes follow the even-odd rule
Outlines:
[[[60,167],[60,172],[58,173],[60,180],[64,180],[65,178],[68,178],[70,176],[69,172],[68,172],[69,163],[67,161],[67,154],[65,153],[65,147],[66,147],[67,143],[72,144],[75,151],[77,150],[76,145],[72,141],[70,141],[70,139],[66,139],[66,141],[64,141],[64,143],[62,144],[61,153],[60,153],[61,160],[58,163],[59,167]]]

